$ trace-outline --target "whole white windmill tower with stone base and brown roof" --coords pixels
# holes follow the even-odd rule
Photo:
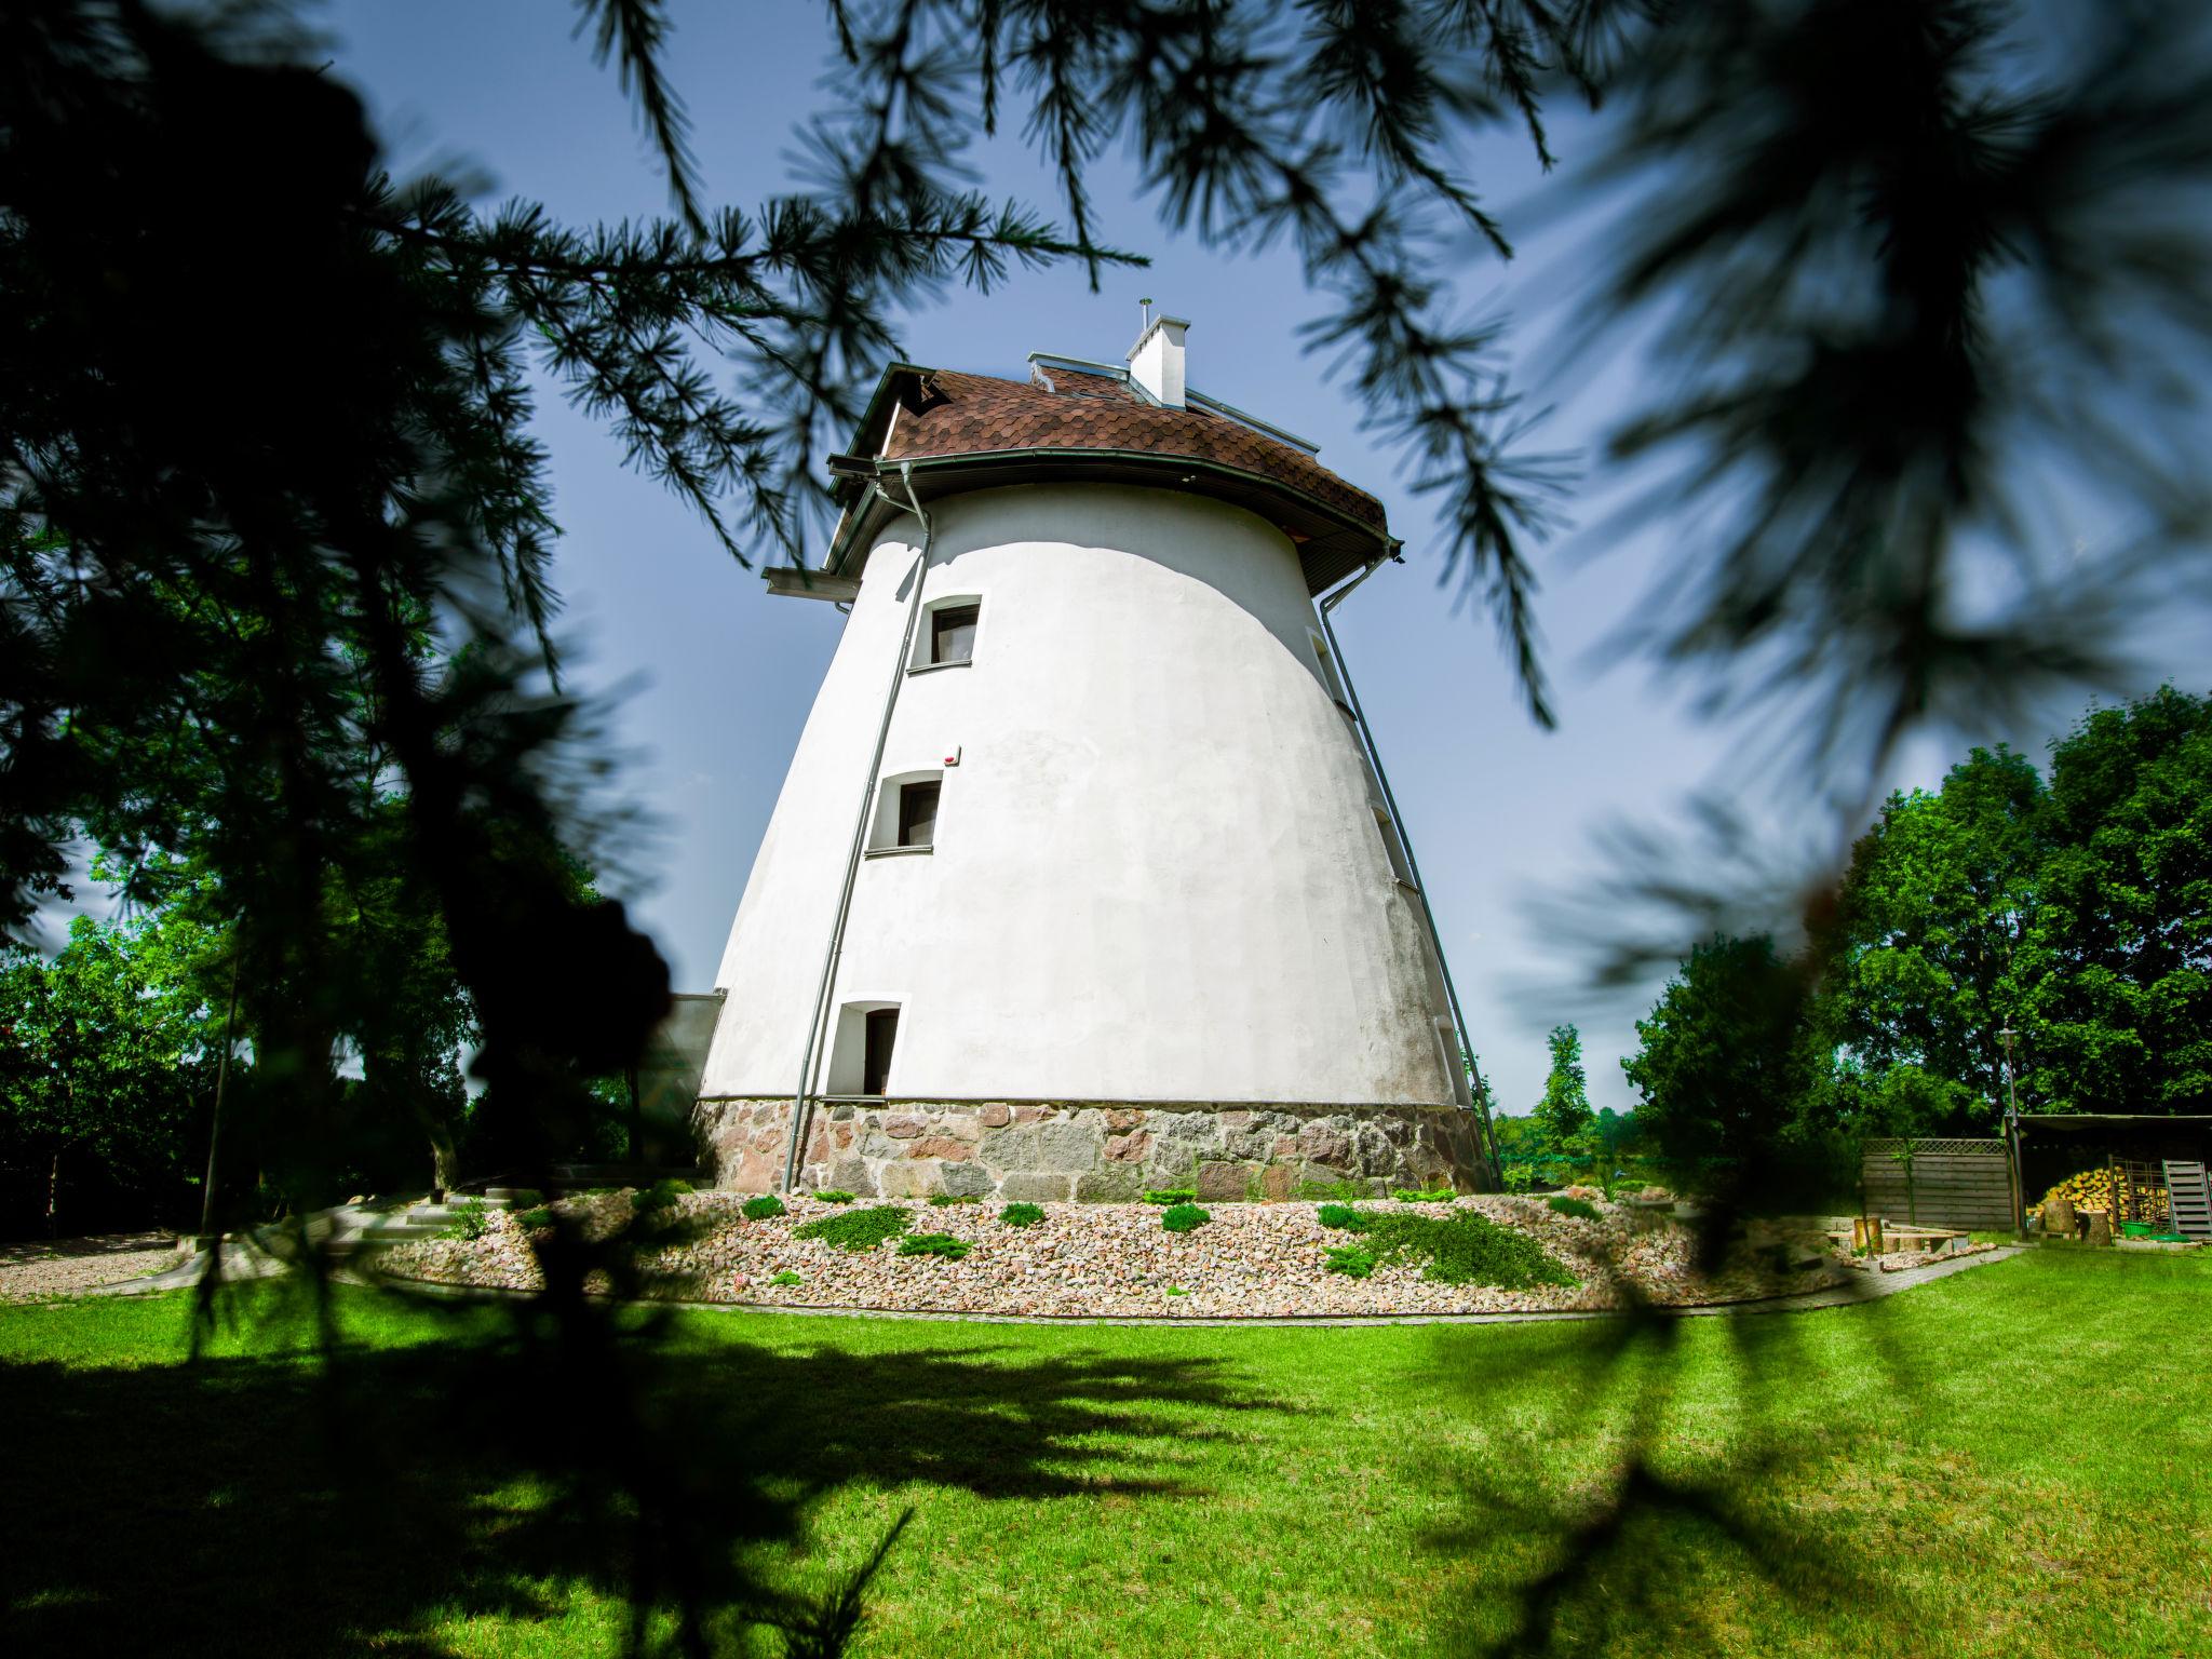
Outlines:
[[[1327,630],[1396,542],[1312,445],[1188,387],[1186,330],[1029,380],[891,365],[832,458],[827,560],[768,573],[849,619],[717,975],[721,1186],[1480,1181]]]

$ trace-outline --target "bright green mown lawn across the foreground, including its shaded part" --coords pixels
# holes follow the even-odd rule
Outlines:
[[[619,1650],[606,1436],[504,1314],[343,1294],[325,1378],[270,1292],[197,1369],[186,1312],[0,1310],[11,1652]],[[2194,1657],[2208,1314],[2212,1263],[2106,1252],[1644,1334],[684,1314],[655,1398],[714,1595],[914,1511],[867,1655]]]

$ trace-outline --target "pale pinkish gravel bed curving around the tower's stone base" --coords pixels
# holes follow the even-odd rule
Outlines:
[[[1312,1314],[1500,1314],[1606,1310],[1632,1298],[1701,1305],[1801,1294],[1836,1283],[1843,1270],[1825,1254],[1739,1250],[1714,1274],[1692,1270],[1692,1234],[1670,1217],[1599,1203],[1586,1221],[1548,1210],[1542,1199],[1469,1197],[1475,1210],[1537,1239],[1577,1279],[1575,1285],[1498,1290],[1440,1285],[1418,1265],[1376,1267],[1371,1279],[1325,1270],[1332,1245],[1358,1243],[1323,1228],[1314,1203],[1214,1203],[1194,1232],[1166,1232],[1150,1203],[1046,1203],[1044,1221],[1011,1228],[998,1201],[911,1210],[911,1232],[969,1241],[960,1261],[900,1256],[898,1241],[867,1252],[796,1239],[794,1228],[823,1214],[869,1208],[787,1199],[790,1214],[745,1221],[743,1194],[686,1194],[668,1219],[666,1243],[639,1250],[648,1296],[770,1303],[776,1307],[876,1307],[916,1314],[1029,1316],[1183,1316],[1274,1318]],[[1360,1203],[1363,1210],[1442,1214],[1447,1206]],[[628,1194],[568,1199],[562,1210],[586,1234],[606,1237],[630,1214]],[[396,1245],[378,1256],[385,1274],[449,1285],[538,1290],[542,1279],[529,1234],[504,1212],[482,1239]],[[799,1283],[774,1283],[799,1274]],[[597,1287],[608,1287],[604,1276]]]

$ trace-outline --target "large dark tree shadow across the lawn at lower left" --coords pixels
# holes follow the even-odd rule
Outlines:
[[[763,1575],[823,1493],[1179,1493],[1172,1407],[1265,1409],[1208,1360],[757,1347],[639,1318],[608,1345],[639,1407],[615,1413],[595,1394],[617,1380],[555,1363],[551,1321],[414,1318],[436,1338],[327,1369],[0,1367],[13,1650],[440,1655],[460,1619],[586,1593],[599,1652],[719,1652],[745,1624],[836,1652],[869,1564],[823,1562],[845,1575],[827,1597]]]

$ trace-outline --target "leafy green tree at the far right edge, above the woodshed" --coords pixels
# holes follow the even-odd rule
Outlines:
[[[2051,750],[2048,838],[2015,973],[2022,1095],[2212,1110],[2212,699],[2090,710]]]

